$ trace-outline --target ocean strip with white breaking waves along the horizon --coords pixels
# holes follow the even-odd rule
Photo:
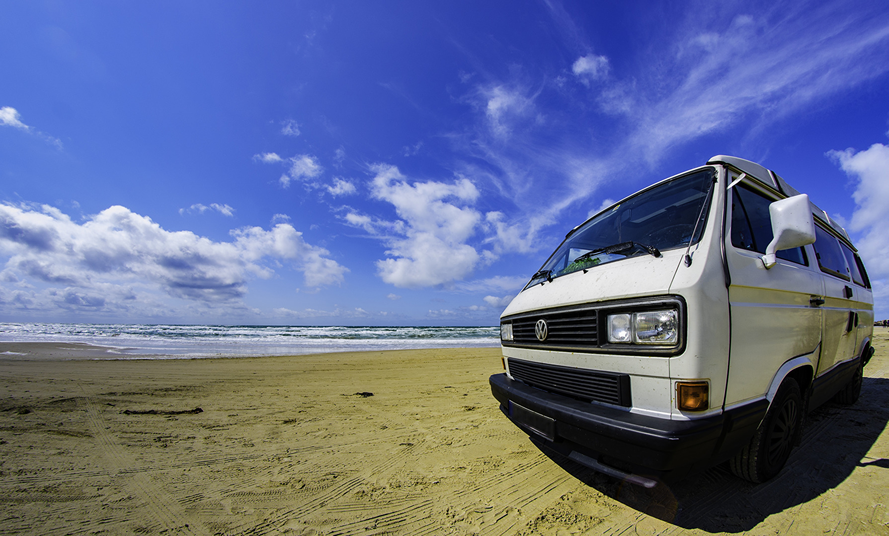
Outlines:
[[[500,346],[500,327],[0,323],[0,342],[107,346],[108,359],[193,359]],[[12,356],[3,356],[12,357]]]

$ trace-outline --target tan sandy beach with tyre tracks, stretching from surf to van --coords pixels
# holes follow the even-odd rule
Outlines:
[[[28,360],[102,351],[0,343],[0,534],[889,534],[876,340],[861,400],[812,414],[779,477],[653,490],[517,430],[488,388],[500,349]]]

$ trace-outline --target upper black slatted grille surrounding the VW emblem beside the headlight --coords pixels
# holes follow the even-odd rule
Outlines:
[[[541,346],[597,346],[595,309],[541,312],[512,320],[513,343]],[[534,334],[537,320],[547,321],[547,338]]]

